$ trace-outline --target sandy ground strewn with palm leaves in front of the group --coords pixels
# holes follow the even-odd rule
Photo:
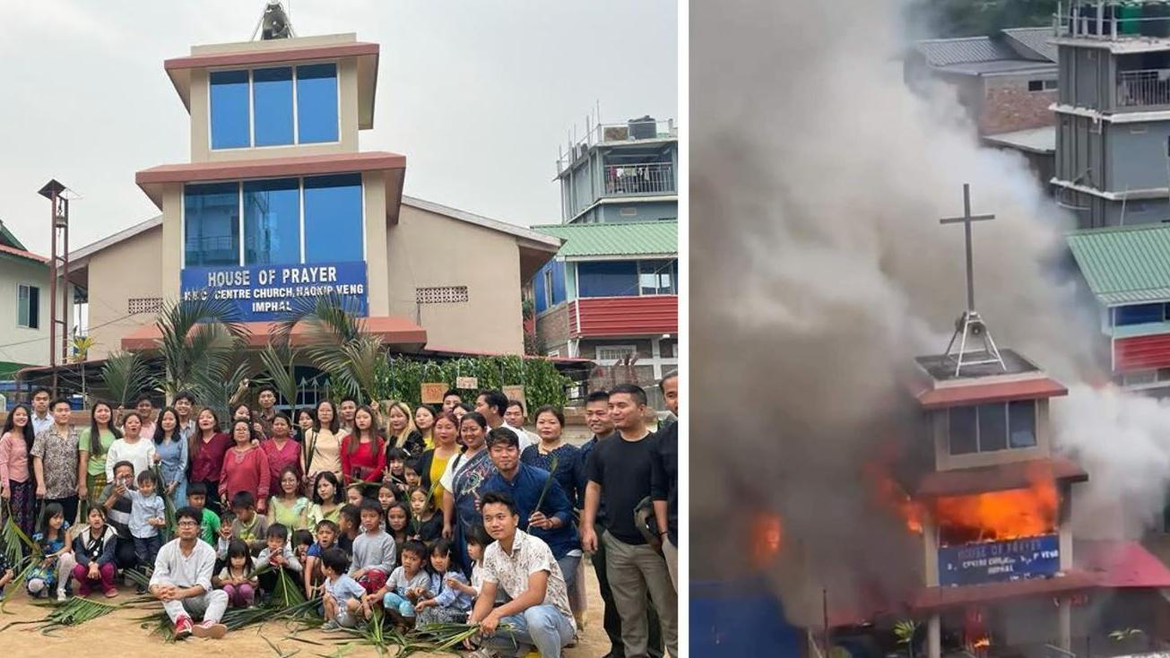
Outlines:
[[[579,632],[577,646],[565,650],[567,658],[587,658],[604,656],[610,650],[610,640],[601,629],[601,596],[597,588],[597,576],[592,566],[585,568],[586,590],[589,591],[589,610],[585,615],[585,628]],[[91,595],[103,602],[121,602],[133,598],[133,591],[121,588],[117,598],[108,599],[99,594]],[[159,608],[160,610],[161,608]],[[9,622],[21,622],[43,618],[47,610],[32,605],[21,591],[5,606],[0,615],[0,628]],[[50,636],[42,635],[32,625],[13,626],[0,632],[0,658],[23,658],[26,656],[68,656],[70,650],[78,650],[85,658],[117,657],[129,658],[146,656],[150,658],[167,658],[172,656],[248,656],[308,658],[312,656],[333,656],[337,646],[344,643],[331,642],[337,636],[319,631],[301,631],[297,637],[315,642],[324,642],[325,646],[315,646],[288,639],[290,630],[284,624],[266,624],[259,629],[243,629],[221,640],[187,639],[179,643],[165,643],[158,635],[140,628],[135,617],[149,615],[146,610],[118,610],[105,617],[94,619],[80,626],[62,629]],[[264,642],[267,638],[280,652],[273,651]],[[347,646],[343,653],[346,658],[365,658],[378,656],[367,646]],[[295,652],[295,653],[294,653]],[[453,656],[452,653],[415,653],[415,656]]]

